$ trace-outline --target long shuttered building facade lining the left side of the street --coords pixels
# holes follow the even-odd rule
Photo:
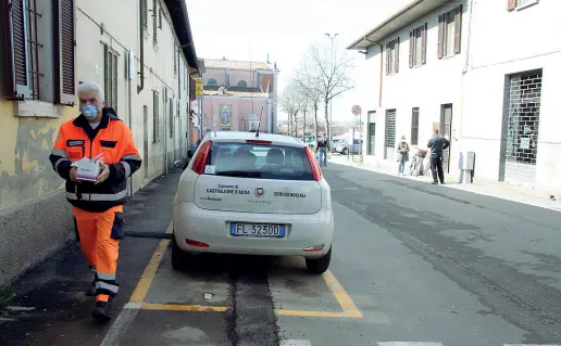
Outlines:
[[[0,9],[0,37],[9,38],[0,53],[8,66],[0,73],[0,262],[8,264],[0,285],[73,234],[63,181],[48,156],[60,125],[79,115],[80,82],[101,85],[107,106],[133,131],[142,167],[128,181],[129,195],[189,145],[198,63],[185,1],[55,2],[32,9],[34,1],[9,0]]]

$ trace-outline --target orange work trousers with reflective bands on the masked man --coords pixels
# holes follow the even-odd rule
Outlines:
[[[123,206],[102,213],[90,213],[73,207],[73,212],[79,246],[96,272],[96,300],[108,302],[119,291],[116,268],[119,242],[123,232],[122,219],[117,213],[123,213]],[[115,236],[116,233],[120,233],[120,236]]]

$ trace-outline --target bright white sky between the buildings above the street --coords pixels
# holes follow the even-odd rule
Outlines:
[[[186,0],[199,59],[276,62],[279,95],[296,77],[311,43],[334,40],[337,56],[361,35],[377,26],[412,0]],[[350,57],[364,55],[347,51]],[[352,74],[351,78],[356,78]],[[333,101],[333,120],[351,121],[351,107],[360,104],[354,91]],[[286,114],[278,107],[279,119]]]

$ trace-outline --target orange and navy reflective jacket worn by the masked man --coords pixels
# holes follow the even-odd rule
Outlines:
[[[90,181],[72,182],[72,163],[83,157],[96,157],[100,153],[103,153],[103,162],[109,166],[109,178],[98,184]],[[130,129],[112,108],[103,108],[96,129],[91,128],[84,115],[62,124],[49,159],[52,168],[66,180],[66,200],[73,206],[92,213],[123,205],[126,201],[126,178],[141,164]]]

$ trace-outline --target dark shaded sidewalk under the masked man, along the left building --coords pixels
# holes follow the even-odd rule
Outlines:
[[[127,236],[120,245],[121,286],[113,302],[115,317],[128,302],[170,226],[182,172],[172,169],[155,178],[125,205]],[[0,309],[0,345],[101,345],[113,321],[94,322],[94,298],[84,295],[91,280],[92,272],[72,239],[10,287],[14,297],[4,303],[12,307]]]

